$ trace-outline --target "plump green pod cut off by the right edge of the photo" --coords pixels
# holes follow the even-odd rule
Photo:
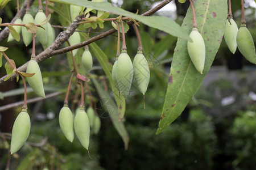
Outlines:
[[[241,26],[238,29],[237,47],[243,57],[245,57],[251,63],[256,64],[256,54],[253,37],[251,37],[250,31],[245,26]]]

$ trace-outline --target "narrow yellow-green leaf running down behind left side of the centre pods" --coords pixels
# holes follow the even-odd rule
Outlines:
[[[112,79],[113,65],[110,63],[106,54],[98,47],[98,45],[95,42],[93,42],[92,44],[89,44],[89,47],[90,49],[92,49],[94,56],[98,59],[98,62],[100,62],[100,65],[102,66],[102,69],[104,70],[106,76],[108,76],[108,80],[115,97],[115,102],[118,105],[119,119],[121,120],[125,115],[125,98],[122,95],[119,95],[119,91],[117,90],[113,82],[113,79]]]

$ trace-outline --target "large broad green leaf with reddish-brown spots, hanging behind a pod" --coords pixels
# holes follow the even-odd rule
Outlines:
[[[225,30],[227,2],[223,0],[193,1],[196,9],[197,25],[205,42],[205,67],[200,75],[188,56],[187,40],[178,39],[171,64],[166,99],[156,134],[161,133],[183,112],[188,102],[207,75],[213,59],[220,47]],[[186,33],[192,30],[192,10],[189,7],[181,26]]]

